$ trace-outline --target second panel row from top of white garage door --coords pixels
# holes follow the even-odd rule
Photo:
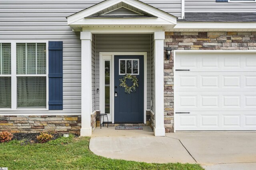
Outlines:
[[[256,91],[256,72],[176,72],[174,90]]]

